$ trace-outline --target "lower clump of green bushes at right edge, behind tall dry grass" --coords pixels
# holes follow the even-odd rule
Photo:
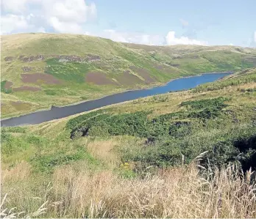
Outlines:
[[[122,147],[123,161],[135,161],[140,168],[147,166],[179,166],[191,163],[203,152],[201,166],[221,167],[239,162],[244,171],[256,168],[256,126],[235,126],[232,129],[204,130],[191,125],[185,135],[163,136],[149,146]],[[239,144],[238,144],[239,142]],[[137,169],[137,168],[136,168]]]

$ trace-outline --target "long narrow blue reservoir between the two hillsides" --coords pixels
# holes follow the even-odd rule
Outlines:
[[[123,92],[119,94],[113,94],[107,97],[103,97],[97,100],[90,100],[77,105],[67,105],[63,107],[52,107],[51,110],[38,111],[32,114],[24,116],[13,117],[10,119],[1,120],[2,127],[11,127],[19,125],[33,125],[42,122],[51,121],[53,119],[60,119],[66,116],[79,114],[85,111],[90,111],[102,106],[111,105],[115,103],[122,103],[128,100],[135,100],[140,97],[152,96],[155,94],[165,94],[171,91],[180,91],[184,89],[191,89],[199,84],[216,81],[219,78],[230,75],[232,73],[210,73],[190,78],[179,78],[174,81],[170,81],[164,86],[157,86],[152,89],[142,89]]]

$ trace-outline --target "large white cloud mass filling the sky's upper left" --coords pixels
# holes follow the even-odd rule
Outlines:
[[[26,31],[27,26],[30,31],[38,31],[38,26],[42,26],[45,30],[82,33],[82,26],[97,15],[96,5],[86,4],[84,0],[2,0],[1,7],[2,18],[5,18],[2,34]],[[18,20],[18,25],[14,19]],[[26,25],[22,26],[21,21]]]

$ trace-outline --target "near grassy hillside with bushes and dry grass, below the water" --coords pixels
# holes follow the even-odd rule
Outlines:
[[[255,75],[2,128],[3,207],[44,218],[255,218]]]

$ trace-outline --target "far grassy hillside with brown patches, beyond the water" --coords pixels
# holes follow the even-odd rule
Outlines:
[[[1,36],[1,116],[247,67],[256,67],[253,48],[133,45],[72,34]]]

